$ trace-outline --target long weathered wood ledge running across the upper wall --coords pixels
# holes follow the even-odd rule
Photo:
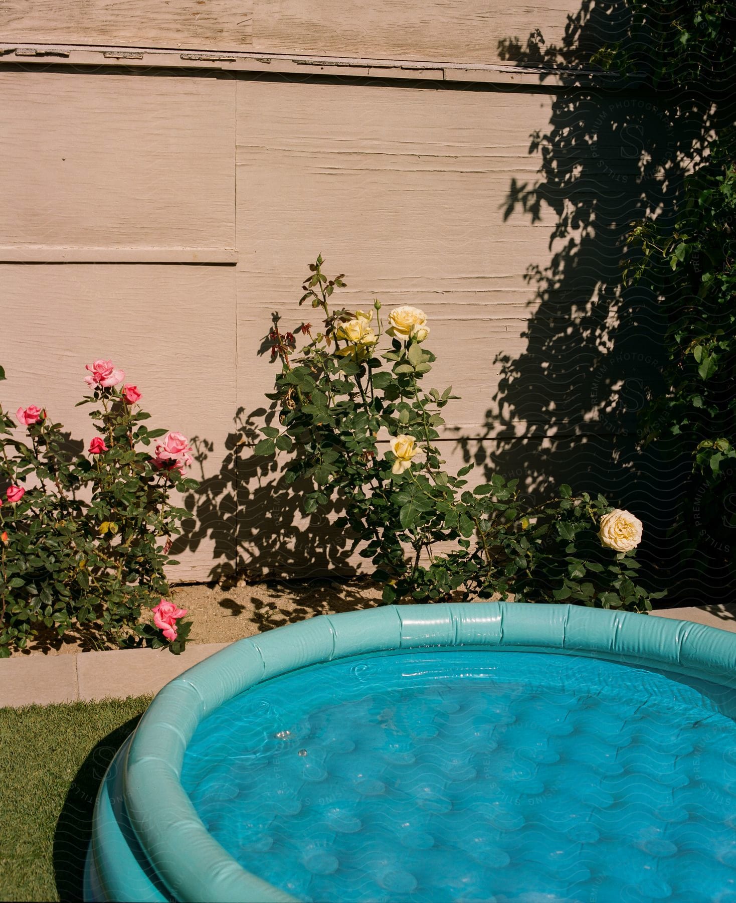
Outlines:
[[[163,69],[204,69],[232,72],[323,75],[361,79],[411,79],[442,82],[491,83],[524,87],[577,88],[616,84],[612,72],[566,70],[548,67],[521,67],[416,60],[382,60],[358,57],[322,57],[299,54],[167,51],[154,48],[82,47],[0,42],[0,65],[24,66],[50,63],[71,67],[137,66]]]

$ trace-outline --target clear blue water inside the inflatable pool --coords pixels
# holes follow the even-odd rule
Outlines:
[[[579,656],[366,656],[225,703],[182,783],[245,869],[315,903],[736,903],[735,706]]]

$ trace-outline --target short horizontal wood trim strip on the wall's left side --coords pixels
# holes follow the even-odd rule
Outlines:
[[[236,264],[235,247],[0,246],[0,264]]]

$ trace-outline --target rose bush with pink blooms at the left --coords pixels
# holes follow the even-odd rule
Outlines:
[[[169,595],[164,565],[177,563],[168,558],[170,539],[189,516],[171,504],[171,490],[198,484],[154,466],[146,449],[166,431],[149,430],[151,414],[117,389],[95,386],[79,404],[92,405],[106,451],[73,452],[45,411],[19,439],[0,408],[0,485],[25,489],[0,507],[0,657],[40,631],[63,636],[76,627],[103,644],[169,645],[178,653],[189,623],[169,644],[142,610]]]

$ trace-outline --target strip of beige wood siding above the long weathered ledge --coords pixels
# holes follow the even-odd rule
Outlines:
[[[0,41],[498,63],[540,29],[562,43],[579,0],[4,0]]]

